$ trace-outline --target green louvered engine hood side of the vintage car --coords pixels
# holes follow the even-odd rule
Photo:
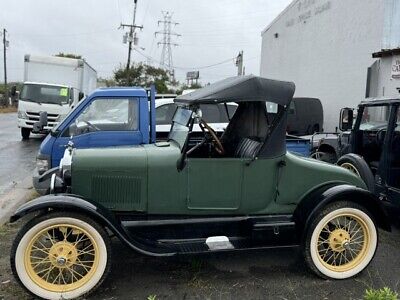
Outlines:
[[[147,155],[143,146],[76,149],[72,193],[119,211],[147,210]]]

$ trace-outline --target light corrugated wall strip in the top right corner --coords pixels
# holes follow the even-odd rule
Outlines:
[[[385,0],[382,49],[400,48],[400,0]]]

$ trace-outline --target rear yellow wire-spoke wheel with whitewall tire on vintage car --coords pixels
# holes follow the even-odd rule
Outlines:
[[[303,251],[318,276],[345,279],[368,266],[377,244],[378,232],[369,212],[341,201],[329,204],[311,221]]]

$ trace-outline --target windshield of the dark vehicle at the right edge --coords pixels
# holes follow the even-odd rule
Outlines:
[[[367,106],[364,108],[360,129],[379,130],[387,127],[389,120],[388,106]]]

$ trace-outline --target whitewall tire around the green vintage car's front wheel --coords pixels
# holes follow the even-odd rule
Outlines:
[[[60,293],[60,292],[53,292],[53,291],[45,291],[45,289],[43,289],[39,285],[35,285],[36,282],[34,282],[34,280],[31,280],[32,282],[29,282],[29,281],[25,280],[25,282],[28,282],[31,287],[34,286],[34,287],[37,288],[37,290],[39,290],[40,292],[43,293],[43,294],[39,294],[38,295],[35,292],[33,292],[31,289],[29,289],[29,287],[28,287],[29,284],[27,284],[28,286],[26,286],[24,284],[23,280],[21,280],[21,278],[20,278],[20,274],[18,273],[17,264],[21,260],[21,257],[18,256],[19,255],[18,253],[21,253],[22,251],[26,251],[26,248],[19,249],[18,246],[20,245],[21,240],[23,240],[23,238],[24,238],[24,236],[26,234],[28,234],[28,236],[32,235],[32,233],[30,232],[31,229],[34,232],[34,229],[36,229],[36,228],[40,229],[40,226],[42,226],[42,224],[44,222],[54,221],[55,224],[58,224],[57,223],[58,220],[72,220],[73,222],[79,222],[79,223],[75,223],[75,224],[81,224],[81,225],[85,224],[81,228],[85,228],[85,226],[86,226],[86,228],[88,228],[87,226],[89,225],[89,227],[91,228],[90,230],[94,229],[98,233],[97,241],[104,242],[104,244],[101,244],[101,245],[99,243],[98,244],[98,248],[96,248],[96,249],[99,249],[98,252],[97,252],[99,255],[101,253],[105,254],[105,255],[103,255],[103,257],[101,259],[102,260],[101,261],[101,265],[102,265],[101,269],[104,270],[104,271],[102,271],[102,275],[101,275],[100,279],[98,279],[100,274],[98,274],[97,277],[93,276],[93,277],[96,277],[96,278],[94,278],[94,279],[92,279],[93,277],[89,278],[89,280],[88,280],[89,283],[84,283],[82,286],[79,286],[76,290],[70,291],[69,292],[70,294],[63,293],[63,292]],[[45,224],[47,224],[47,223],[45,223]],[[48,224],[50,224],[50,223],[48,223]],[[67,223],[62,223],[62,224],[67,224]],[[71,223],[71,224],[74,224],[74,223]],[[44,228],[46,228],[46,225],[44,225]],[[85,230],[86,230],[86,228],[85,228]],[[93,232],[91,232],[91,233],[93,233]],[[28,239],[28,241],[30,241],[30,240]],[[25,243],[26,243],[26,241],[25,241]],[[51,243],[53,243],[53,242],[51,242]],[[105,251],[104,250],[100,250],[100,249],[104,249]],[[79,255],[78,255],[78,257],[79,257]],[[50,260],[50,252],[49,252],[49,260]],[[104,262],[104,260],[106,260],[106,261]],[[30,294],[34,295],[35,297],[39,297],[39,298],[43,298],[43,299],[54,299],[54,298],[56,298],[56,299],[61,299],[61,298],[64,299],[64,295],[65,295],[65,299],[74,299],[74,298],[77,298],[77,297],[84,297],[84,296],[87,296],[87,295],[91,294],[92,292],[94,292],[103,283],[103,281],[106,279],[106,277],[110,273],[110,269],[111,269],[111,240],[110,240],[110,237],[109,237],[107,231],[105,230],[105,228],[103,228],[101,225],[99,225],[93,219],[91,219],[91,218],[89,218],[89,217],[87,217],[85,215],[74,213],[74,212],[51,212],[51,213],[44,214],[44,215],[41,215],[41,216],[38,216],[38,217],[34,217],[33,219],[31,219],[28,223],[26,223],[22,227],[22,229],[18,232],[17,236],[14,239],[14,242],[13,242],[13,245],[12,245],[12,248],[11,248],[10,263],[11,263],[11,269],[12,269],[13,275],[16,278],[16,280],[20,283],[20,285],[22,287],[24,287],[25,290],[27,290]],[[19,266],[19,270],[21,270],[21,264],[18,264],[18,266]],[[51,265],[50,265],[50,267],[51,267]],[[88,266],[86,266],[86,267],[88,267]],[[95,273],[97,271],[97,267],[98,267],[98,265],[96,265]],[[24,278],[26,278],[26,274],[24,272],[20,271],[20,273],[24,276]],[[59,283],[59,284],[61,284],[61,283]],[[87,287],[88,284],[92,286],[92,287],[90,287],[90,289],[88,289],[88,287]],[[74,295],[74,293],[77,294],[77,295]],[[61,297],[58,294],[60,294]]]

